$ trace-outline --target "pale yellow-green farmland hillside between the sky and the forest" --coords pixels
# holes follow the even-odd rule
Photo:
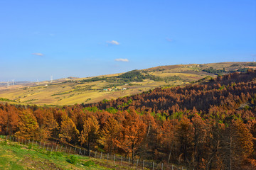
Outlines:
[[[159,86],[190,84],[204,77],[216,77],[230,72],[246,72],[255,68],[250,62],[211,64],[180,64],[134,70],[124,74],[42,81],[14,86],[1,86],[0,101],[39,106],[61,106],[75,103],[95,103],[149,91]]]

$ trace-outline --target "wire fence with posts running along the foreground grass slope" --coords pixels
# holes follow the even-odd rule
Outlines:
[[[73,147],[70,145],[60,145],[57,142],[38,142],[34,140],[23,140],[14,136],[0,135],[2,139],[11,142],[18,142],[21,145],[29,145],[31,147],[38,147],[50,152],[65,152],[67,154],[78,154],[80,156],[92,157],[105,161],[107,164],[114,164],[118,166],[125,166],[129,169],[152,169],[152,170],[186,170],[183,166],[175,164],[167,164],[165,162],[153,162],[144,159],[134,159],[131,157],[123,157],[118,154],[109,154],[106,152],[97,152],[88,150],[82,147]]]

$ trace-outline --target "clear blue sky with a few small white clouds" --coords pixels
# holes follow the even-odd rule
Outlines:
[[[0,1],[0,81],[252,61],[256,1]]]

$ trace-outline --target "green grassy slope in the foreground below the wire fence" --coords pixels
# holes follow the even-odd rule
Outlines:
[[[0,169],[127,169],[97,159],[0,140]]]

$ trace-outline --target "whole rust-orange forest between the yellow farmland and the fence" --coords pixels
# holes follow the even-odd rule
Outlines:
[[[183,164],[256,169],[256,71],[74,106],[0,104],[0,135]]]

